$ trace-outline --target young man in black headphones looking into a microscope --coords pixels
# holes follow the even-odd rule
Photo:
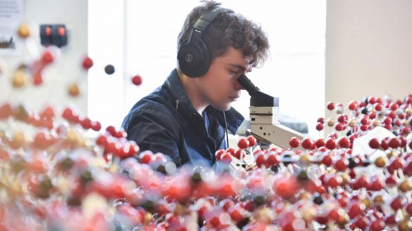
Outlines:
[[[139,100],[123,121],[140,150],[168,155],[177,166],[211,166],[244,120],[230,107],[237,79],[262,63],[268,39],[242,15],[204,1],[185,20],[177,39],[177,68],[163,86]]]

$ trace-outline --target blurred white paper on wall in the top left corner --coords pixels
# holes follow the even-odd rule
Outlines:
[[[23,43],[17,31],[23,11],[24,0],[0,0],[0,56],[20,55]]]

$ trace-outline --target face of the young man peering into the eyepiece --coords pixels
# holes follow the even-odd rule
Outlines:
[[[196,86],[204,103],[217,110],[229,110],[243,89],[237,79],[251,71],[249,62],[241,50],[233,47],[228,48],[223,56],[214,58],[208,72],[196,78]]]

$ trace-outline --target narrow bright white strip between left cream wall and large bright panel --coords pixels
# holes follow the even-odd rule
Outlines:
[[[89,55],[94,67],[89,70],[89,107],[91,119],[98,119],[102,128],[120,127],[125,113],[123,68],[124,50],[124,1],[89,0]],[[106,65],[113,65],[115,72],[104,72]],[[130,79],[127,79],[127,83]]]

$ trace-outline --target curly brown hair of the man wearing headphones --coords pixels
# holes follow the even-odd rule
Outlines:
[[[219,7],[220,13],[208,25],[202,35],[202,40],[208,46],[211,60],[224,55],[227,48],[240,48],[246,58],[251,58],[251,65],[256,67],[263,64],[268,57],[269,41],[259,25],[247,20],[243,15],[221,8],[216,1],[201,1],[203,4],[193,8],[187,15],[182,30],[177,37],[177,49],[185,39],[189,39],[194,23],[203,13],[211,8]]]

